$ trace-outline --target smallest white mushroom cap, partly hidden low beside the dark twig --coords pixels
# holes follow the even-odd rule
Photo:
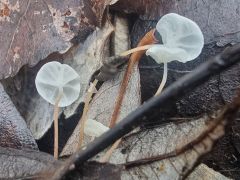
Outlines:
[[[104,126],[102,123],[92,119],[88,119],[84,126],[84,133],[92,137],[101,136],[107,130],[109,130],[109,127]]]

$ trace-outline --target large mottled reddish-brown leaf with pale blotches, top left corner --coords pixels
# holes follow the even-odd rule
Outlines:
[[[1,0],[0,79],[53,52],[66,52],[78,34],[101,25],[111,0]]]

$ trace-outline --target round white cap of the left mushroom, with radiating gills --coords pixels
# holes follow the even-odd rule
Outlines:
[[[77,100],[80,93],[80,77],[69,65],[53,61],[46,63],[37,73],[35,84],[38,93],[51,104],[55,104],[62,93],[59,107],[65,107]]]

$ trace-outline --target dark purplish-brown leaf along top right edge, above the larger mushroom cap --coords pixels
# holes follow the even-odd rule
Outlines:
[[[239,42],[240,3],[235,0],[119,0],[115,10],[138,13],[142,19],[158,21],[167,13],[178,13],[194,20],[203,30],[205,44],[224,46]]]

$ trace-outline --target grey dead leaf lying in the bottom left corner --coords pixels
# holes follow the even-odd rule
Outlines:
[[[53,171],[61,163],[46,153],[0,148],[0,179],[39,178],[37,173]]]

